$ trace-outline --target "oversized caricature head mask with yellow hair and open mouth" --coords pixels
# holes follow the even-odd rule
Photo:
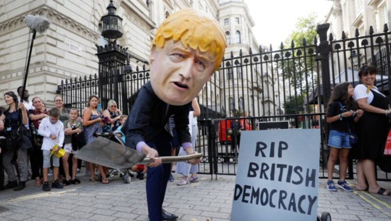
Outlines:
[[[190,103],[213,72],[227,46],[220,24],[202,11],[186,8],[169,16],[151,45],[151,85],[170,105]]]

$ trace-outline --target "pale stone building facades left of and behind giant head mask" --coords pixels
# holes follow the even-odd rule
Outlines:
[[[29,42],[24,16],[41,15],[51,21],[49,29],[37,33],[34,41],[27,89],[31,98],[39,96],[52,107],[62,80],[98,73],[95,45],[107,44],[101,36],[100,19],[107,14],[108,4],[109,0],[0,1],[0,105],[4,105],[4,92],[16,91],[22,85]],[[198,8],[212,15],[221,22],[226,33],[230,33],[231,44],[225,57],[229,57],[231,51],[238,55],[240,49],[248,53],[250,47],[259,48],[251,31],[254,21],[243,0],[113,0],[113,4],[117,8],[116,15],[123,19],[123,36],[117,43],[128,48],[133,67],[148,68],[150,43],[157,26],[168,15],[185,7]],[[228,25],[225,24],[227,19]],[[220,102],[224,90],[220,83],[209,83],[213,85],[210,88],[218,88],[213,91],[217,103],[229,102],[229,98]],[[267,88],[266,85],[262,87]],[[207,103],[207,99],[208,103],[216,102],[212,97],[204,97],[200,103]],[[243,97],[248,96],[243,94]],[[239,106],[238,99],[236,102]]]

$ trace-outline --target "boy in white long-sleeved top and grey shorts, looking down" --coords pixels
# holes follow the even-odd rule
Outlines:
[[[54,145],[58,145],[53,153],[57,153],[64,143],[64,124],[59,121],[60,110],[52,108],[48,111],[49,117],[43,118],[38,133],[43,136],[43,191],[50,191],[47,181],[47,171],[50,168],[50,156],[53,161],[53,183],[52,188],[62,189],[63,186],[58,182],[60,159],[50,153]]]

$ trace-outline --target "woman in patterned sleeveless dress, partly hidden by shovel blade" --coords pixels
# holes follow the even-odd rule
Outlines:
[[[102,118],[98,112],[97,107],[99,104],[99,97],[91,95],[88,98],[87,108],[83,110],[83,125],[85,127],[84,135],[86,143],[92,142],[95,139],[95,133],[102,133]],[[109,180],[106,178],[103,166],[98,165],[98,170],[101,173],[102,183],[107,184]],[[95,164],[89,163],[89,181],[97,181],[95,177]]]

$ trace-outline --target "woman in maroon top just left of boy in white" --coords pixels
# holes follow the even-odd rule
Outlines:
[[[33,148],[29,152],[31,163],[31,179],[35,179],[35,186],[41,186],[41,178],[43,176],[43,155],[42,155],[42,142],[43,136],[38,133],[38,128],[43,118],[48,117],[46,110],[44,109],[41,98],[34,97],[31,100],[34,110],[28,111],[28,117],[30,118],[30,130],[33,135]]]

